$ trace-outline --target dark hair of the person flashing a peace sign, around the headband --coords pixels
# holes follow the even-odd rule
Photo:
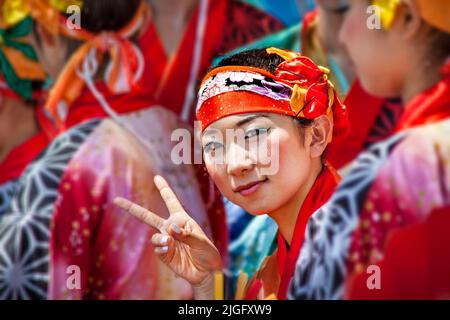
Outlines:
[[[247,66],[263,69],[267,72],[275,74],[277,66],[284,60],[277,54],[269,54],[266,49],[252,49],[239,52],[232,56],[222,59],[216,66]],[[305,128],[313,123],[313,120],[305,118],[292,117],[300,128]]]

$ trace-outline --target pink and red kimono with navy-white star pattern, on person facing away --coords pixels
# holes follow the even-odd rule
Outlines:
[[[176,117],[144,108],[133,94],[98,89],[118,118],[85,89],[66,131],[28,166],[1,217],[2,299],[191,298],[190,285],[154,255],[153,231],[112,204],[123,196],[166,214],[149,182],[157,173],[209,236],[212,223],[225,228],[220,215],[209,219],[192,167],[167,161],[173,145],[165,133],[180,127]]]

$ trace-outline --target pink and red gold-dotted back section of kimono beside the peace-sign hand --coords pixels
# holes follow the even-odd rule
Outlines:
[[[146,123],[141,119],[167,112],[158,109],[128,116],[126,121],[139,129]],[[175,123],[166,121],[169,125]],[[156,133],[165,130],[157,126],[154,152],[165,158],[170,146],[161,144],[158,151]],[[152,136],[151,131],[145,132]],[[190,285],[153,253],[149,240],[154,231],[112,204],[114,197],[122,196],[167,214],[152,183],[159,173],[168,178],[186,210],[208,233],[209,220],[199,189],[192,182],[191,167],[172,168],[175,165],[170,163],[158,164],[129,132],[109,119],[102,121],[72,158],[60,183],[51,226],[50,299],[192,298]],[[187,188],[183,181],[190,184],[188,191],[182,192]],[[68,290],[67,268],[72,265],[80,267],[79,290]]]

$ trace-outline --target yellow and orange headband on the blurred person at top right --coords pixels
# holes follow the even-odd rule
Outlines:
[[[450,33],[450,1],[448,0],[415,0],[420,15],[431,26]],[[373,5],[380,9],[383,27],[389,30],[401,0],[373,0]]]

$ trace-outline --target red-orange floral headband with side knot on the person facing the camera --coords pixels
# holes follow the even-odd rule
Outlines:
[[[202,130],[226,116],[268,112],[310,120],[327,115],[334,125],[333,137],[345,135],[346,108],[328,80],[329,70],[293,51],[268,48],[267,53],[284,59],[275,74],[249,66],[226,66],[206,75],[197,105]]]

